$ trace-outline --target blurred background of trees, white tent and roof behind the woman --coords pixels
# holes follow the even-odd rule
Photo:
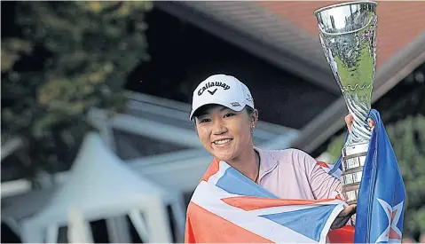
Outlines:
[[[313,12],[335,3],[2,2],[2,242],[182,242],[212,159],[188,120],[209,75],[248,85],[256,146],[333,163],[348,112]],[[373,107],[405,181],[404,242],[425,242],[423,12],[377,7]]]

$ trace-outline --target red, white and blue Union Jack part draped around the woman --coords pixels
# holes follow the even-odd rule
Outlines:
[[[352,242],[351,226],[328,235],[345,206],[337,199],[279,199],[226,162],[214,160],[189,203],[185,242]]]

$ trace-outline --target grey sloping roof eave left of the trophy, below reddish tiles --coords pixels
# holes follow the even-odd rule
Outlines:
[[[157,1],[153,4],[276,67],[335,95],[340,94],[326,59],[320,52],[319,41],[254,2]],[[296,35],[298,37],[295,38]],[[297,43],[299,40],[302,40],[303,47]]]

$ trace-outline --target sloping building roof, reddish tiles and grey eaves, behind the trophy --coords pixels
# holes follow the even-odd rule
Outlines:
[[[322,89],[341,95],[319,43],[313,12],[334,1],[185,1],[155,6],[215,34]],[[373,102],[425,62],[425,4],[379,2]],[[304,126],[293,144],[311,152],[340,130],[342,98]],[[319,132],[318,132],[319,131]]]

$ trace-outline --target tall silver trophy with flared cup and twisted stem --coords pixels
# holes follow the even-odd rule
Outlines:
[[[342,148],[342,193],[357,203],[358,188],[372,135],[371,109],[376,59],[376,3],[334,4],[314,12],[323,51],[354,122]]]

